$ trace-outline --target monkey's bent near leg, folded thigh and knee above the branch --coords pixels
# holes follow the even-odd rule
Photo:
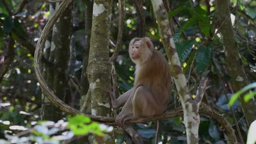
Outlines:
[[[162,113],[161,106],[156,104],[152,93],[144,86],[136,89],[132,99],[133,118],[149,117]]]

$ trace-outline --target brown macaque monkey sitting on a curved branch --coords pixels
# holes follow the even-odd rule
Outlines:
[[[133,38],[129,44],[129,55],[136,64],[133,88],[118,99],[110,92],[112,108],[123,106],[115,119],[120,127],[132,118],[164,113],[171,96],[170,68],[165,57],[154,49],[149,38]]]

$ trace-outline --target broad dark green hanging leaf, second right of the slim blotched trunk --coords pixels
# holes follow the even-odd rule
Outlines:
[[[196,54],[196,71],[201,74],[210,65],[212,56],[211,47],[200,46]]]

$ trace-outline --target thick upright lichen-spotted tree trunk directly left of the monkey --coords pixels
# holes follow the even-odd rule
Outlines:
[[[91,114],[110,117],[111,107],[108,97],[111,86],[109,61],[109,33],[112,15],[112,0],[95,0],[92,13],[91,43],[88,61],[90,83]],[[93,136],[94,143],[114,143],[113,134],[104,137]]]

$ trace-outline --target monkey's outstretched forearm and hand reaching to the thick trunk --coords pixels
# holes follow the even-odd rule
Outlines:
[[[133,88],[132,88],[133,89]],[[113,93],[110,93],[110,99],[111,99],[111,105],[113,109],[117,109],[120,106],[123,106],[127,99],[129,99],[131,93],[132,93],[132,89],[130,89],[129,91],[125,92],[124,94],[120,95],[120,97],[118,97],[118,99],[115,99],[115,96]]]

